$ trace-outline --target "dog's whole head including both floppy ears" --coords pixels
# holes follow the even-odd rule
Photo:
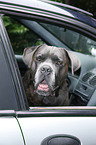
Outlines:
[[[75,59],[76,56],[64,48],[48,45],[26,48],[23,54],[23,61],[32,70],[36,93],[43,96],[54,95],[62,85],[69,62],[72,73],[78,69],[79,65],[74,64]]]

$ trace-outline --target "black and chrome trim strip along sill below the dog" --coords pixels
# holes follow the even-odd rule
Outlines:
[[[96,117],[96,107],[31,107],[17,111],[17,117]]]

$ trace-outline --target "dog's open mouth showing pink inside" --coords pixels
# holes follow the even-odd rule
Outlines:
[[[37,90],[49,92],[50,89],[49,89],[47,82],[45,80],[43,80],[41,83],[39,83]]]

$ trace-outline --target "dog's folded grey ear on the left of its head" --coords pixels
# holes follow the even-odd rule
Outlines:
[[[36,51],[38,50],[39,47],[41,47],[42,45],[39,46],[34,46],[34,47],[27,47],[24,49],[23,52],[23,61],[24,63],[30,68],[33,62],[33,58],[34,58],[34,54],[36,53]]]

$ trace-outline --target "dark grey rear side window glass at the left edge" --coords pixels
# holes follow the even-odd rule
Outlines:
[[[0,41],[0,110],[18,110],[13,80],[1,42],[2,41]]]

